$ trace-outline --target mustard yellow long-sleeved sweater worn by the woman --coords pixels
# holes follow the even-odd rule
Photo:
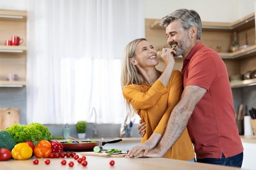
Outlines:
[[[171,111],[179,102],[182,91],[182,75],[177,70],[173,70],[167,88],[159,80],[152,86],[130,84],[123,88],[124,98],[132,104],[142,121],[146,122],[146,135],[141,143],[153,132],[164,134]],[[195,157],[187,128],[163,157],[185,161]]]

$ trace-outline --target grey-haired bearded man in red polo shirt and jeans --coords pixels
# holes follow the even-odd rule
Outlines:
[[[197,162],[241,167],[243,145],[227,68],[218,53],[200,41],[200,16],[194,10],[179,9],[164,17],[161,24],[166,29],[167,43],[175,46],[173,56],[184,58],[184,91],[159,144],[152,149],[153,144],[142,143],[127,157],[162,157],[187,126]]]

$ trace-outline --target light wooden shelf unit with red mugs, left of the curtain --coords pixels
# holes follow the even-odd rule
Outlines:
[[[6,46],[11,36],[23,39],[19,46]],[[27,65],[27,11],[0,9],[0,87],[26,85]],[[18,75],[18,81],[9,81],[7,75]]]

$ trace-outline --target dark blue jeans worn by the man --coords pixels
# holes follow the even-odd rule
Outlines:
[[[235,155],[234,157],[228,157],[225,158],[222,154],[221,159],[218,158],[205,158],[205,159],[197,159],[197,162],[201,163],[211,163],[216,165],[223,165],[223,166],[234,166],[234,167],[240,167],[243,163],[243,152],[241,152],[238,155]]]

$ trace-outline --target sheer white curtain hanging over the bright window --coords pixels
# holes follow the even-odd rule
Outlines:
[[[145,37],[144,0],[29,0],[27,123],[124,122],[121,57]]]

